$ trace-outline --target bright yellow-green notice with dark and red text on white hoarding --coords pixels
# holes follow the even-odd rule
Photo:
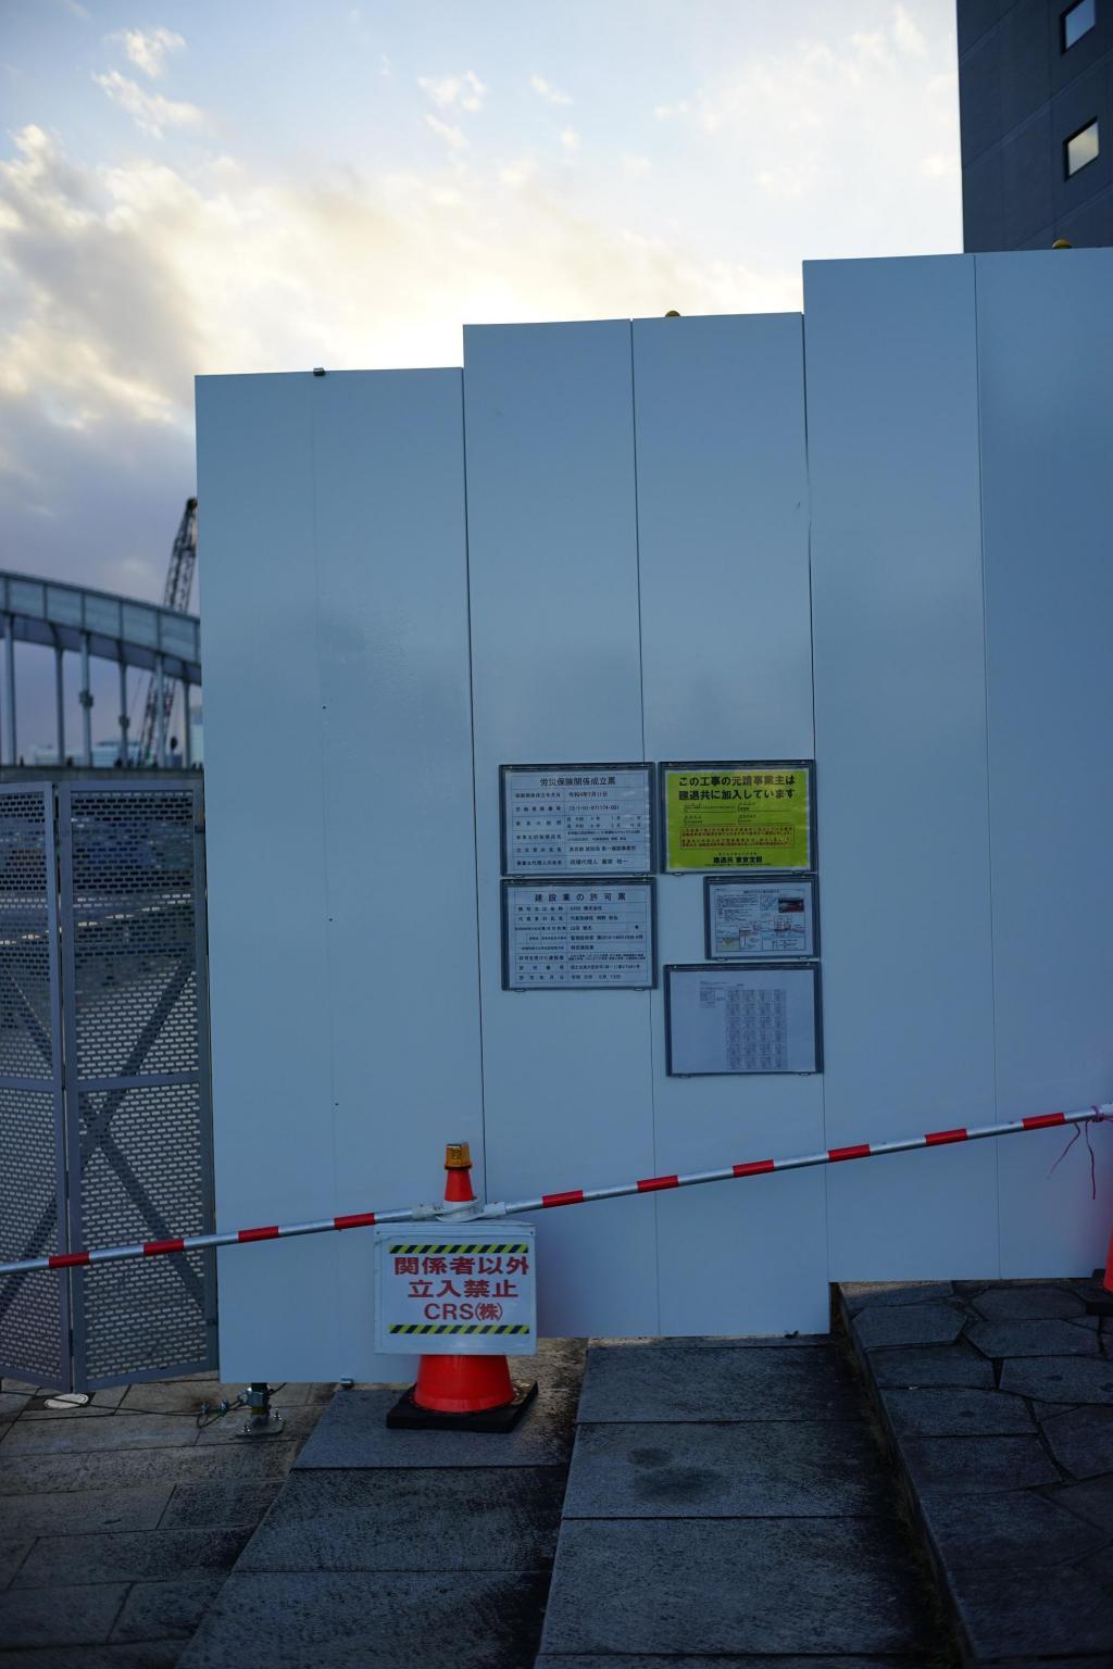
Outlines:
[[[667,870],[811,870],[809,764],[666,764]]]

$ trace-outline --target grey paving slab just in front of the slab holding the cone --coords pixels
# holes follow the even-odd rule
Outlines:
[[[542,1571],[561,1490],[547,1467],[294,1472],[247,1571]]]

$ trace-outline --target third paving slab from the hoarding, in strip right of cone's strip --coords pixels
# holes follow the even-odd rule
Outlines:
[[[874,1519],[566,1519],[542,1652],[893,1652],[918,1622]]]

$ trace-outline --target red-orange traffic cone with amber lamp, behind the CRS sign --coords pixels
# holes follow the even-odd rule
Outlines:
[[[467,1142],[444,1153],[444,1202],[469,1205],[476,1195]],[[387,1425],[509,1432],[537,1395],[537,1384],[516,1385],[504,1355],[422,1355],[417,1384],[387,1414]]]

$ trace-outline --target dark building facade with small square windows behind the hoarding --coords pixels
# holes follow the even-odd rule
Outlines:
[[[1113,244],[1113,0],[958,0],[968,250]]]

